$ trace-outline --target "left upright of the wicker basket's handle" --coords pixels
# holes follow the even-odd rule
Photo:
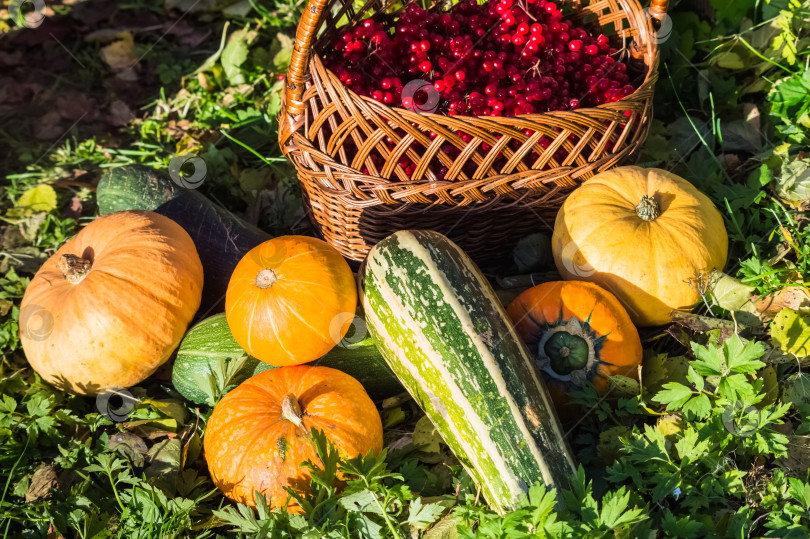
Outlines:
[[[287,68],[287,88],[284,92],[287,114],[291,116],[304,112],[301,97],[304,95],[304,83],[309,80],[309,53],[321,25],[321,14],[328,3],[329,0],[309,0],[295,31],[292,58],[290,67]]]

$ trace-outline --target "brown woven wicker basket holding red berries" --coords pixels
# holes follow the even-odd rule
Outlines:
[[[402,4],[370,0],[355,11],[354,0],[309,0],[287,73],[279,143],[298,170],[310,216],[326,241],[361,260],[370,246],[397,230],[432,229],[479,263],[490,261],[522,236],[550,230],[580,182],[637,158],[652,117],[656,32],[666,17],[666,0],[653,0],[648,10],[636,0],[558,3],[566,18],[601,26],[611,45],[626,54],[637,86],[633,94],[596,108],[515,117],[390,107],[348,90],[318,53],[337,39],[338,21],[348,18],[353,26],[372,14],[393,16],[397,10],[391,6]],[[431,131],[438,133],[436,140],[429,138]],[[472,139],[464,142],[459,131]],[[543,136],[552,141],[545,150],[537,144]],[[386,137],[394,139],[393,149],[383,142]],[[510,146],[513,139],[519,148]],[[481,150],[483,143],[491,149]],[[459,155],[447,155],[443,144],[457,147]],[[539,159],[527,166],[532,152]],[[384,165],[375,166],[372,153]],[[398,164],[402,155],[416,165],[412,178]],[[437,160],[449,169],[442,180],[429,167]]]

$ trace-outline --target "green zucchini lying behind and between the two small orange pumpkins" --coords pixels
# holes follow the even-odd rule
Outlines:
[[[399,380],[370,337],[336,346],[312,364],[355,377],[373,400],[402,391]],[[218,396],[217,379],[225,393],[251,376],[273,368],[247,355],[233,338],[225,314],[219,313],[197,323],[183,337],[172,367],[172,385],[195,404],[214,404]]]

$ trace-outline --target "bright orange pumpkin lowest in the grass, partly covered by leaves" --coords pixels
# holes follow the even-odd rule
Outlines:
[[[342,456],[382,449],[382,421],[360,382],[336,369],[299,365],[247,379],[214,408],[205,431],[205,458],[214,485],[228,498],[254,505],[254,492],[273,507],[309,489],[320,464],[311,429],[322,430]],[[290,499],[287,510],[298,512]]]

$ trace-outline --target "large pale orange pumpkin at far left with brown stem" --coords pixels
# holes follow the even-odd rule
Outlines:
[[[20,305],[20,339],[45,380],[75,394],[129,387],[180,343],[203,270],[180,225],[149,211],[99,217],[39,269]]]

